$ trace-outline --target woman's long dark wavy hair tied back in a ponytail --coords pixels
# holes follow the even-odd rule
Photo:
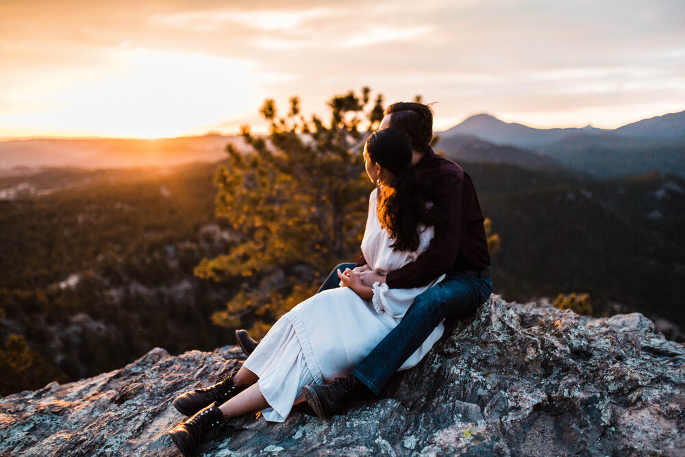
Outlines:
[[[419,224],[434,225],[436,216],[427,207],[430,182],[412,166],[412,143],[398,128],[378,130],[366,140],[371,162],[380,164],[394,177],[378,192],[378,219],[400,251],[419,249]]]

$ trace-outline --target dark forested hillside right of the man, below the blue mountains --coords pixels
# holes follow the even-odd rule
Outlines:
[[[493,167],[480,167],[480,175],[473,164],[474,180],[486,181]],[[646,175],[482,192],[482,207],[501,238],[499,292],[519,301],[590,293],[595,312],[612,313],[617,302],[682,325],[684,189],[684,180]]]

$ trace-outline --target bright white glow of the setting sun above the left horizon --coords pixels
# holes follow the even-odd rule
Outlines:
[[[251,116],[260,94],[251,63],[199,53],[118,50],[107,71],[62,75],[36,112],[5,114],[1,136],[163,138]],[[55,83],[56,84],[56,83]],[[58,94],[58,95],[54,95]],[[12,125],[22,127],[12,127]]]

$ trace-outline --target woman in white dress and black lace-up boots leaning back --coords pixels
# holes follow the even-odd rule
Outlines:
[[[427,183],[411,165],[412,147],[400,129],[379,130],[366,140],[366,173],[377,188],[369,199],[362,254],[374,271],[393,271],[415,260],[433,237],[435,216]],[[240,370],[209,388],[177,397],[174,406],[193,415],[169,432],[190,454],[206,430],[225,419],[262,410],[282,422],[302,388],[349,374],[402,319],[419,288],[364,288],[353,271],[339,273],[339,288],[310,297],[273,325]],[[440,324],[401,369],[416,365],[443,334]]]

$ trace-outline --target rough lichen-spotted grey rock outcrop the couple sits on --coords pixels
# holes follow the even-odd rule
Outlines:
[[[321,421],[292,412],[223,426],[206,456],[682,455],[685,347],[641,314],[580,317],[493,296],[446,332],[380,399]],[[175,455],[166,431],[182,391],[214,382],[243,358],[235,347],[170,356],[0,399],[0,454]]]

